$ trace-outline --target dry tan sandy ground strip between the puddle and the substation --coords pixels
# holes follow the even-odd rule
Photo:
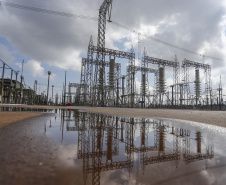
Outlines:
[[[0,105],[1,107],[6,105]],[[12,107],[12,105],[9,105]],[[16,105],[19,107],[19,105]],[[29,108],[47,108],[47,109],[82,109],[89,112],[98,112],[104,114],[135,116],[135,117],[155,117],[155,118],[170,118],[207,123],[226,127],[226,111],[199,111],[199,110],[171,110],[171,109],[131,109],[131,108],[108,108],[108,107],[55,107],[55,106],[32,106],[20,105],[20,107]],[[2,116],[3,115],[3,116]],[[4,116],[5,115],[5,116]],[[21,119],[26,119],[40,114],[26,112],[0,112],[0,125],[6,125]],[[2,124],[1,124],[2,123]]]

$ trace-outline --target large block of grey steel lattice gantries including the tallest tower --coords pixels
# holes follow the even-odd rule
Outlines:
[[[202,105],[208,108],[216,104],[213,101],[216,98],[212,93],[210,65],[184,59],[180,66],[177,56],[174,61],[154,58],[148,56],[144,49],[142,57],[139,57],[141,65],[136,66],[133,46],[129,52],[106,48],[107,12],[110,11],[111,6],[111,0],[104,0],[101,5],[97,46],[94,46],[91,36],[87,58],[82,59],[79,102],[77,102],[79,105],[131,108],[192,106],[198,108],[197,105]],[[117,63],[118,59],[123,60]],[[126,74],[121,74],[123,63],[126,64]],[[181,81],[180,67],[183,69]],[[194,82],[189,81],[190,67],[196,69]],[[169,72],[170,68],[172,72]],[[205,92],[201,92],[202,81],[199,69],[204,69]],[[150,73],[154,76],[150,76]],[[166,78],[169,78],[169,75],[172,75],[170,77],[173,79],[172,84],[166,84]],[[139,78],[140,91],[136,85]],[[190,90],[191,83],[194,83],[194,92]]]

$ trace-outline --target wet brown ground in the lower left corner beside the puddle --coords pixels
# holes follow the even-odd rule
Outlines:
[[[48,138],[51,118],[53,114],[46,113],[0,129],[0,185],[84,185],[82,170],[61,154],[60,141]]]

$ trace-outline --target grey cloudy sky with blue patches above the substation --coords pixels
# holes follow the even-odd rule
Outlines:
[[[4,2],[98,17],[103,0],[0,2],[0,59],[16,71],[21,71],[24,60],[25,82],[33,86],[34,80],[38,80],[38,92],[46,90],[47,71],[52,72],[50,85],[55,86],[55,93],[61,93],[65,71],[68,82],[79,83],[81,59],[87,55],[91,35],[96,45],[98,22],[16,9],[5,6]],[[213,88],[218,87],[220,75],[226,87],[226,0],[114,0],[112,20],[141,33],[141,52],[145,47],[152,57],[174,60],[177,55],[180,62],[187,58],[208,63],[212,66]],[[107,23],[106,47],[129,51],[133,45],[138,56],[137,33]],[[200,55],[163,45],[145,35]],[[168,83],[171,78],[168,77]]]

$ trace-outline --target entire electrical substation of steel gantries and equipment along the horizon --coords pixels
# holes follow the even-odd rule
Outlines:
[[[133,46],[130,51],[106,48],[106,23],[112,22],[111,10],[112,0],[104,0],[99,9],[97,45],[94,45],[91,36],[87,57],[81,61],[80,83],[67,84],[65,80],[61,101],[63,105],[70,102],[72,105],[95,107],[197,109],[218,109],[219,107],[222,109],[224,107],[221,84],[219,89],[212,89],[210,65],[188,59],[184,59],[180,64],[177,56],[173,61],[154,58],[148,56],[144,48],[142,57],[138,56],[140,61],[138,66],[135,64],[136,55]],[[138,50],[141,50],[139,43],[140,40],[138,40]],[[21,74],[20,82],[17,82],[18,72],[2,60],[1,63],[2,103],[24,103],[26,101],[29,104],[42,104],[49,102],[49,82],[47,97],[36,95],[37,81],[34,83],[34,89],[25,87],[27,92],[23,92],[23,75]],[[121,70],[122,65],[125,64],[126,70]],[[7,69],[12,70],[9,82],[4,79],[4,72]],[[169,71],[172,72],[169,73]],[[204,80],[201,80],[200,72],[204,73],[204,78],[202,78]],[[15,80],[13,80],[14,73]],[[172,84],[166,84],[169,76],[173,79]],[[137,77],[141,81],[140,87],[136,82]],[[194,78],[195,80],[192,81]],[[26,100],[24,93],[27,93]],[[59,104],[58,102],[59,95],[57,94],[55,102],[52,103]]]

